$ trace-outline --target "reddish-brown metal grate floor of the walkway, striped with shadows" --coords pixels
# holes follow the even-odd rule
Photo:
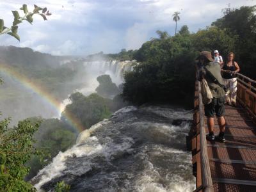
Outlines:
[[[226,106],[226,114],[226,142],[207,141],[214,191],[256,191],[256,126],[241,106]]]

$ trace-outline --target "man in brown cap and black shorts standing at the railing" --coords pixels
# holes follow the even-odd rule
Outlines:
[[[209,104],[204,105],[205,116],[207,116],[207,125],[209,134],[207,134],[207,140],[215,140],[214,136],[214,116],[218,118],[218,124],[220,127],[220,133],[217,140],[225,142],[224,131],[226,121],[225,115],[225,90],[223,90],[223,79],[221,77],[221,67],[216,65],[216,62],[211,57],[211,52],[202,51],[198,60],[198,80],[202,80],[202,76],[207,81],[207,84],[212,93],[212,101]]]

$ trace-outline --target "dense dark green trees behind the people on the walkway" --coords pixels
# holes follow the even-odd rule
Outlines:
[[[125,75],[124,99],[136,104],[181,102],[192,107],[199,51],[218,49],[224,60],[228,52],[235,52],[240,72],[256,79],[255,7],[227,9],[212,26],[196,33],[189,33],[187,26],[175,36],[157,31],[159,38],[152,38],[134,52],[133,58],[140,64]]]

